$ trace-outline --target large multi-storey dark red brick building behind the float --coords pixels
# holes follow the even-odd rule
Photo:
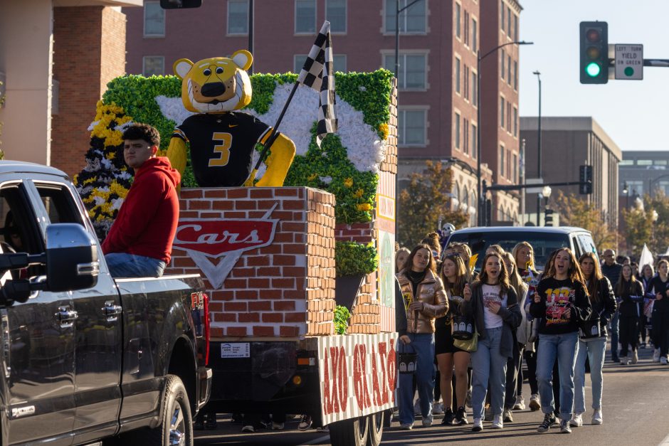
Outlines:
[[[401,0],[400,7],[410,3]],[[257,73],[300,70],[326,18],[332,25],[336,70],[395,70],[396,0],[273,0],[255,5]],[[517,40],[521,10],[515,0],[422,0],[400,16],[400,179],[422,171],[426,159],[448,160],[454,172],[453,206],[468,211],[472,224],[477,207],[477,51]],[[199,60],[248,48],[248,0],[206,1],[200,8],[179,11],[164,11],[159,1],[146,0],[143,9],[123,11],[131,74],[172,74],[179,58]],[[482,172],[489,184],[510,184],[518,178],[518,57],[518,48],[510,45],[497,58],[483,61]],[[515,195],[495,194],[493,199],[499,209],[494,220],[517,221]]]

